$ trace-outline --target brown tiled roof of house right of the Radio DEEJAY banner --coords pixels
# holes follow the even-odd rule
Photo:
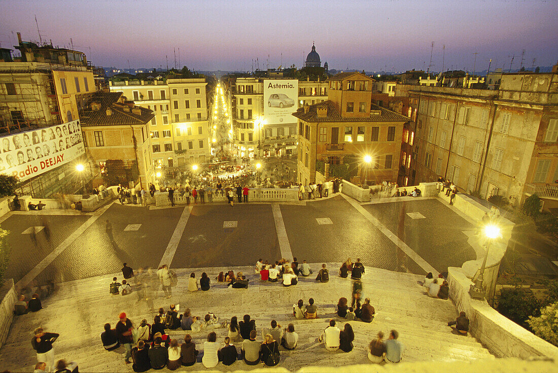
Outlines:
[[[145,124],[155,116],[149,109],[134,106],[133,101],[126,100],[124,96],[121,100],[121,96],[122,92],[95,92],[90,95],[79,109],[81,125]],[[100,108],[92,110],[92,103],[100,104]],[[110,115],[107,115],[107,109],[110,109]],[[134,113],[134,109],[139,109],[140,114]]]

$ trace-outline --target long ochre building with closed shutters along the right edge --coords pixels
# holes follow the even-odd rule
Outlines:
[[[558,206],[556,71],[502,74],[496,90],[401,90],[414,112],[413,183],[442,176],[483,198],[518,205],[537,193],[545,209]]]

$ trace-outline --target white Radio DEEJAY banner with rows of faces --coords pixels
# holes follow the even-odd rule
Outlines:
[[[0,173],[20,181],[41,175],[85,153],[79,120],[0,138]]]

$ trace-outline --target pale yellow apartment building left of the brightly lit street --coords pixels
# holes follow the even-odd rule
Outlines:
[[[208,105],[205,79],[109,81],[111,92],[121,92],[138,106],[150,109],[153,163],[172,171],[210,159]],[[164,172],[163,171],[163,172]]]

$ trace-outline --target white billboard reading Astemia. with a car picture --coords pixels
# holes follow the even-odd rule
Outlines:
[[[296,123],[291,114],[299,108],[297,79],[263,80],[263,115],[267,124]]]

